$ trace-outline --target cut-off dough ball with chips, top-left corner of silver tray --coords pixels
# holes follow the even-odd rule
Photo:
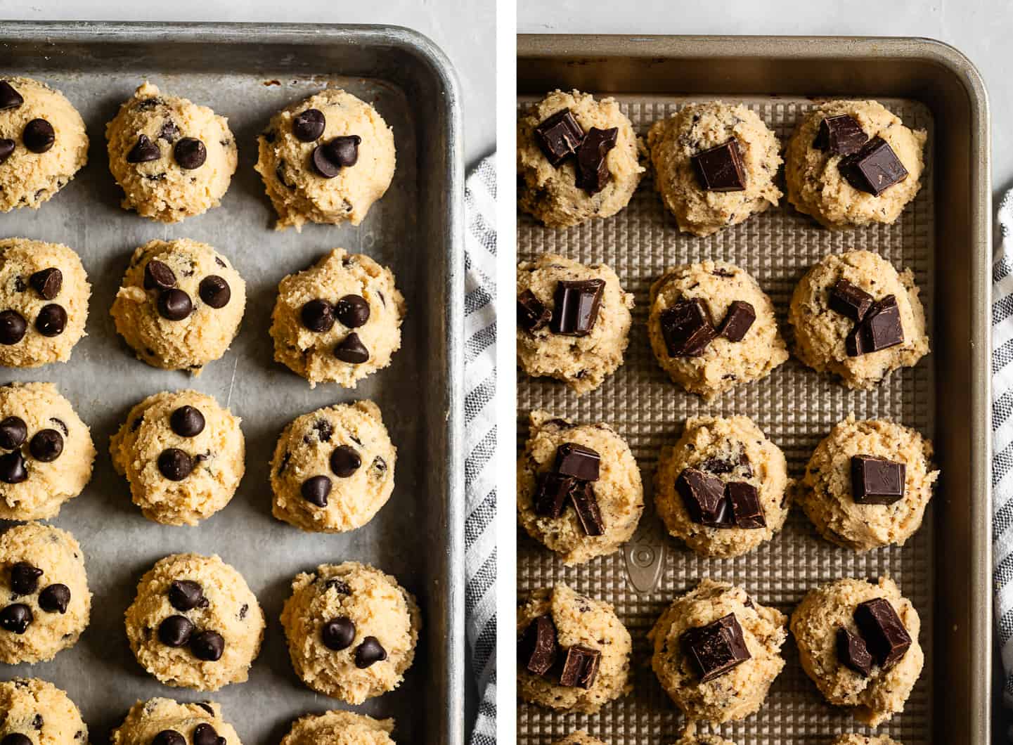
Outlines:
[[[0,79],[0,213],[37,210],[88,162],[84,120],[63,93]]]

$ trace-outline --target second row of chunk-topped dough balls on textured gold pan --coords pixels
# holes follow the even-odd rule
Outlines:
[[[560,314],[560,288],[589,281],[601,287],[590,329],[567,333],[550,323],[549,318]],[[834,298],[842,283],[867,295],[870,303],[888,302],[892,297],[902,340],[854,353],[849,338],[859,324],[842,312]],[[601,386],[623,363],[633,296],[623,291],[609,266],[586,266],[564,256],[543,254],[518,265],[517,292],[518,364],[529,376],[555,378],[581,395]],[[520,304],[525,299],[530,304],[529,294],[535,298],[534,307],[543,311],[541,324],[523,317],[530,306]],[[750,306],[753,321],[742,336],[729,338],[721,330],[722,321],[742,304]],[[680,309],[694,306],[703,307],[706,321],[701,325],[710,338],[702,349],[673,349],[667,337],[668,316],[684,322],[679,319]],[[907,268],[898,271],[871,251],[830,254],[810,267],[792,294],[788,323],[794,330],[798,358],[851,389],[873,388],[893,370],[914,366],[929,352],[925,310],[914,274]],[[677,335],[685,333],[675,330]],[[707,400],[766,378],[788,359],[774,304],[753,276],[725,261],[703,261],[666,271],[650,288],[647,334],[654,357],[669,377]]]

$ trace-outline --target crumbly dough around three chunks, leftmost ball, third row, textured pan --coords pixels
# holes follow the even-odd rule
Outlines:
[[[591,447],[602,458],[594,482],[605,524],[602,535],[588,535],[572,506],[556,518],[535,512],[538,476],[555,468],[556,449],[564,442]],[[528,442],[517,463],[517,512],[528,534],[558,554],[564,564],[614,554],[632,537],[643,512],[640,470],[629,445],[608,424],[572,424],[547,411],[532,412]]]

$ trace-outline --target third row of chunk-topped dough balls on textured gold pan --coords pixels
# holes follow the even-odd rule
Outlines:
[[[569,488],[553,482],[560,473],[560,453],[567,448],[591,450],[597,457],[591,486],[600,529],[589,530],[572,499],[562,492],[561,507],[546,509],[554,488]],[[784,526],[793,501],[816,531],[838,546],[856,552],[903,546],[921,527],[939,478],[932,456],[932,443],[914,429],[849,416],[816,445],[796,482],[788,476],[781,448],[749,417],[695,416],[686,421],[675,445],[661,449],[654,509],[673,537],[706,557],[743,556],[771,541]],[[901,496],[889,504],[856,499],[856,457],[903,464]],[[688,501],[681,483],[684,473],[694,472],[717,484],[718,490],[730,484],[755,489],[759,520],[701,521],[699,508]],[[644,509],[640,470],[629,445],[612,427],[573,424],[545,411],[531,414],[528,441],[518,459],[517,486],[521,526],[567,565],[619,551],[633,536]],[[713,509],[720,512],[718,505]]]

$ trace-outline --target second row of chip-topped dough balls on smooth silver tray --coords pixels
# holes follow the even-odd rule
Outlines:
[[[0,240],[0,364],[70,359],[84,336],[91,285],[59,243]],[[154,240],[131,256],[110,313],[138,359],[200,375],[239,333],[246,283],[206,243]],[[278,285],[275,359],[309,381],[355,388],[401,346],[405,303],[393,272],[336,248]]]

